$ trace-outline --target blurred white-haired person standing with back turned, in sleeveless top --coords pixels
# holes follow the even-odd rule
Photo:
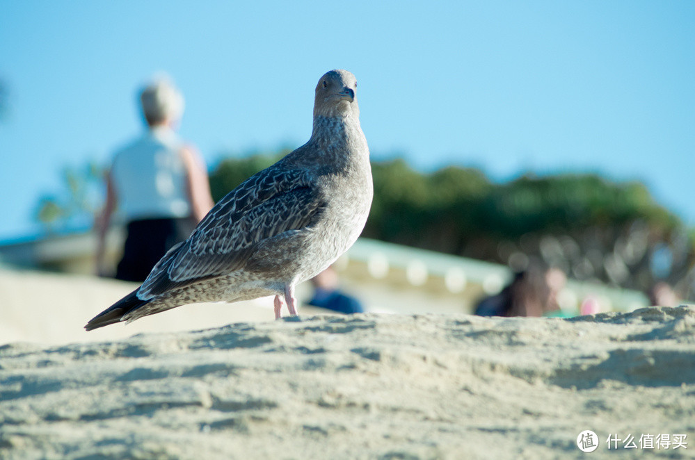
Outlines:
[[[214,204],[202,157],[175,132],[184,111],[181,92],[160,78],[142,90],[140,102],[147,132],[113,156],[106,204],[95,220],[97,273],[104,273],[106,231],[118,209],[128,233],[115,277],[138,282]]]

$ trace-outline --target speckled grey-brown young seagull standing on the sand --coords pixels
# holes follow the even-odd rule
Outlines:
[[[294,288],[355,243],[374,189],[357,81],[327,72],[316,87],[309,141],[221,199],[143,284],[92,318],[90,331],[195,302],[275,295],[296,315]]]

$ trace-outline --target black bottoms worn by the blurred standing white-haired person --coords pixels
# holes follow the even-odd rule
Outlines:
[[[128,224],[116,279],[143,282],[159,259],[193,231],[191,219],[144,219]]]

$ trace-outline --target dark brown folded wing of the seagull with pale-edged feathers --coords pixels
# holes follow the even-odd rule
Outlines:
[[[221,199],[188,240],[170,249],[137,296],[151,299],[240,270],[258,243],[306,227],[324,205],[305,170],[263,170]]]

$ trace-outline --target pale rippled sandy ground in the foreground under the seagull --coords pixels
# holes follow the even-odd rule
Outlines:
[[[59,323],[72,313],[43,292],[65,295],[50,279],[35,290]],[[653,307],[573,320],[305,313],[15,342],[0,347],[0,458],[693,458],[694,332],[692,307]],[[591,454],[576,444],[586,429],[600,438]],[[666,434],[687,435],[687,450],[640,448]]]

